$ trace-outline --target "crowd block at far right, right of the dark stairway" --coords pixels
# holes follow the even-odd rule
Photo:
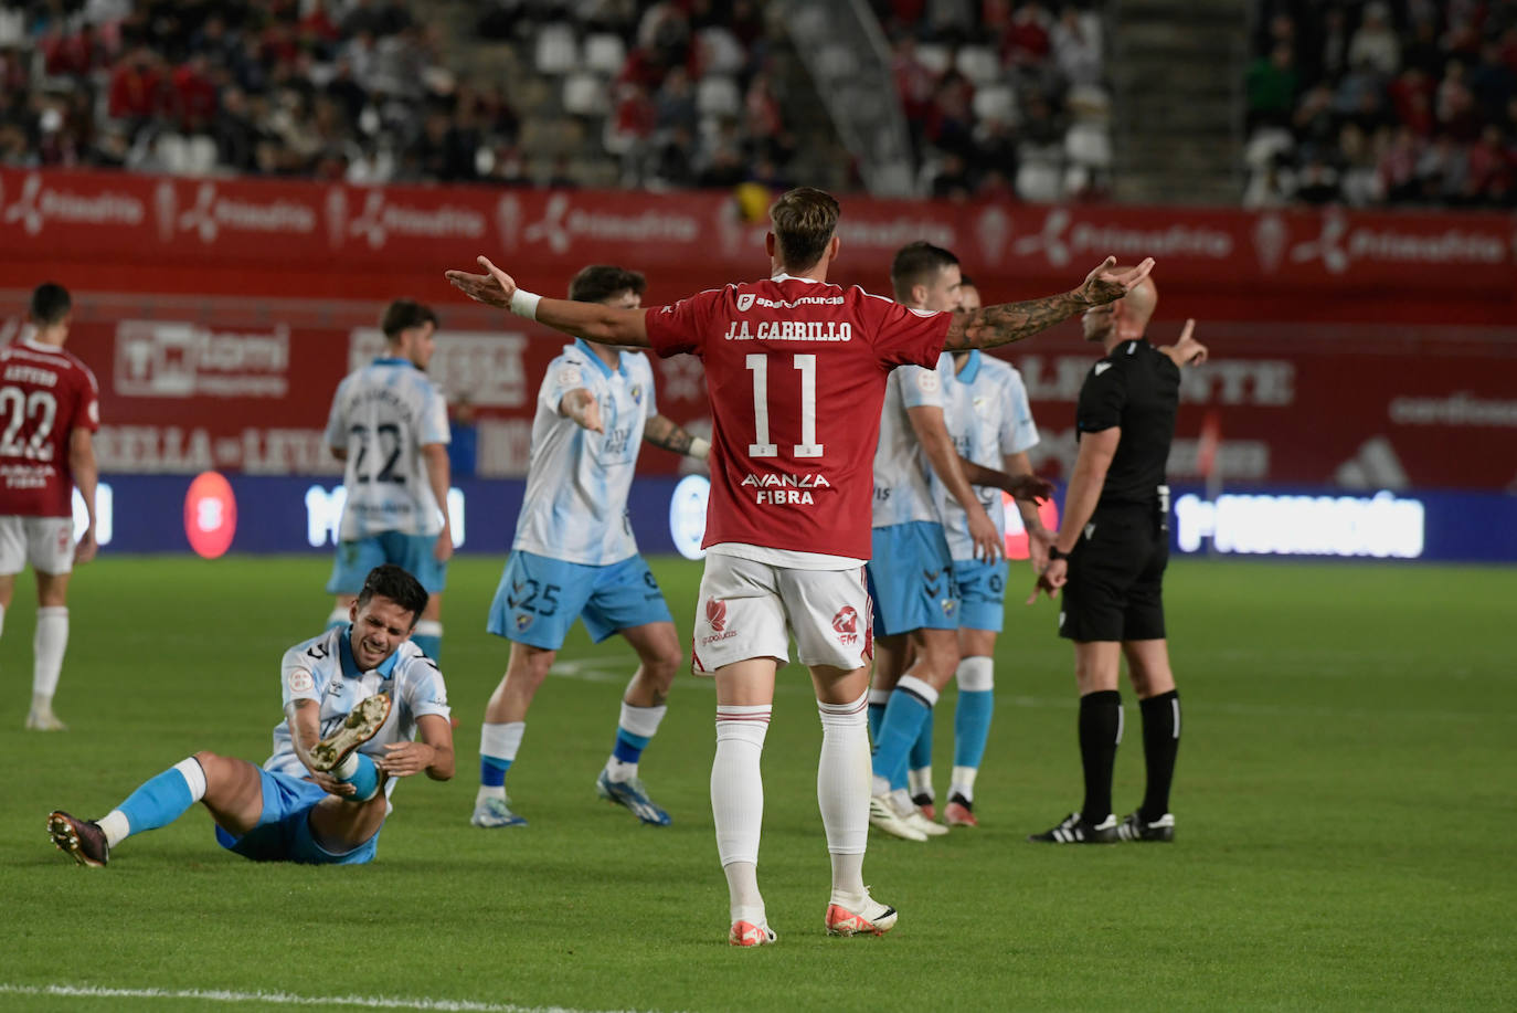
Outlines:
[[[1517,3],[1264,0],[1244,204],[1517,207]]]

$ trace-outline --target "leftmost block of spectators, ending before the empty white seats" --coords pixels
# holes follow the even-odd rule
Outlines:
[[[461,179],[516,123],[399,0],[0,0],[0,84],[9,166]]]

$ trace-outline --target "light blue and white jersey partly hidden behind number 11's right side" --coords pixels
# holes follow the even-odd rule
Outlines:
[[[942,378],[934,371],[921,366],[890,371],[880,410],[880,443],[874,448],[874,527],[938,522],[927,454],[906,410],[942,404]]]

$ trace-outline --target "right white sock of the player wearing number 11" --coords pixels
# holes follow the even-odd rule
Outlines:
[[[868,694],[853,703],[816,703],[822,718],[822,756],[816,764],[816,803],[833,855],[833,893],[863,893],[863,852],[869,841]]]

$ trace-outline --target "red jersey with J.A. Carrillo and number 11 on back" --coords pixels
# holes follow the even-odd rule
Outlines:
[[[702,545],[869,559],[884,381],[938,364],[951,313],[780,275],[649,308],[658,355],[699,355],[711,401]]]

